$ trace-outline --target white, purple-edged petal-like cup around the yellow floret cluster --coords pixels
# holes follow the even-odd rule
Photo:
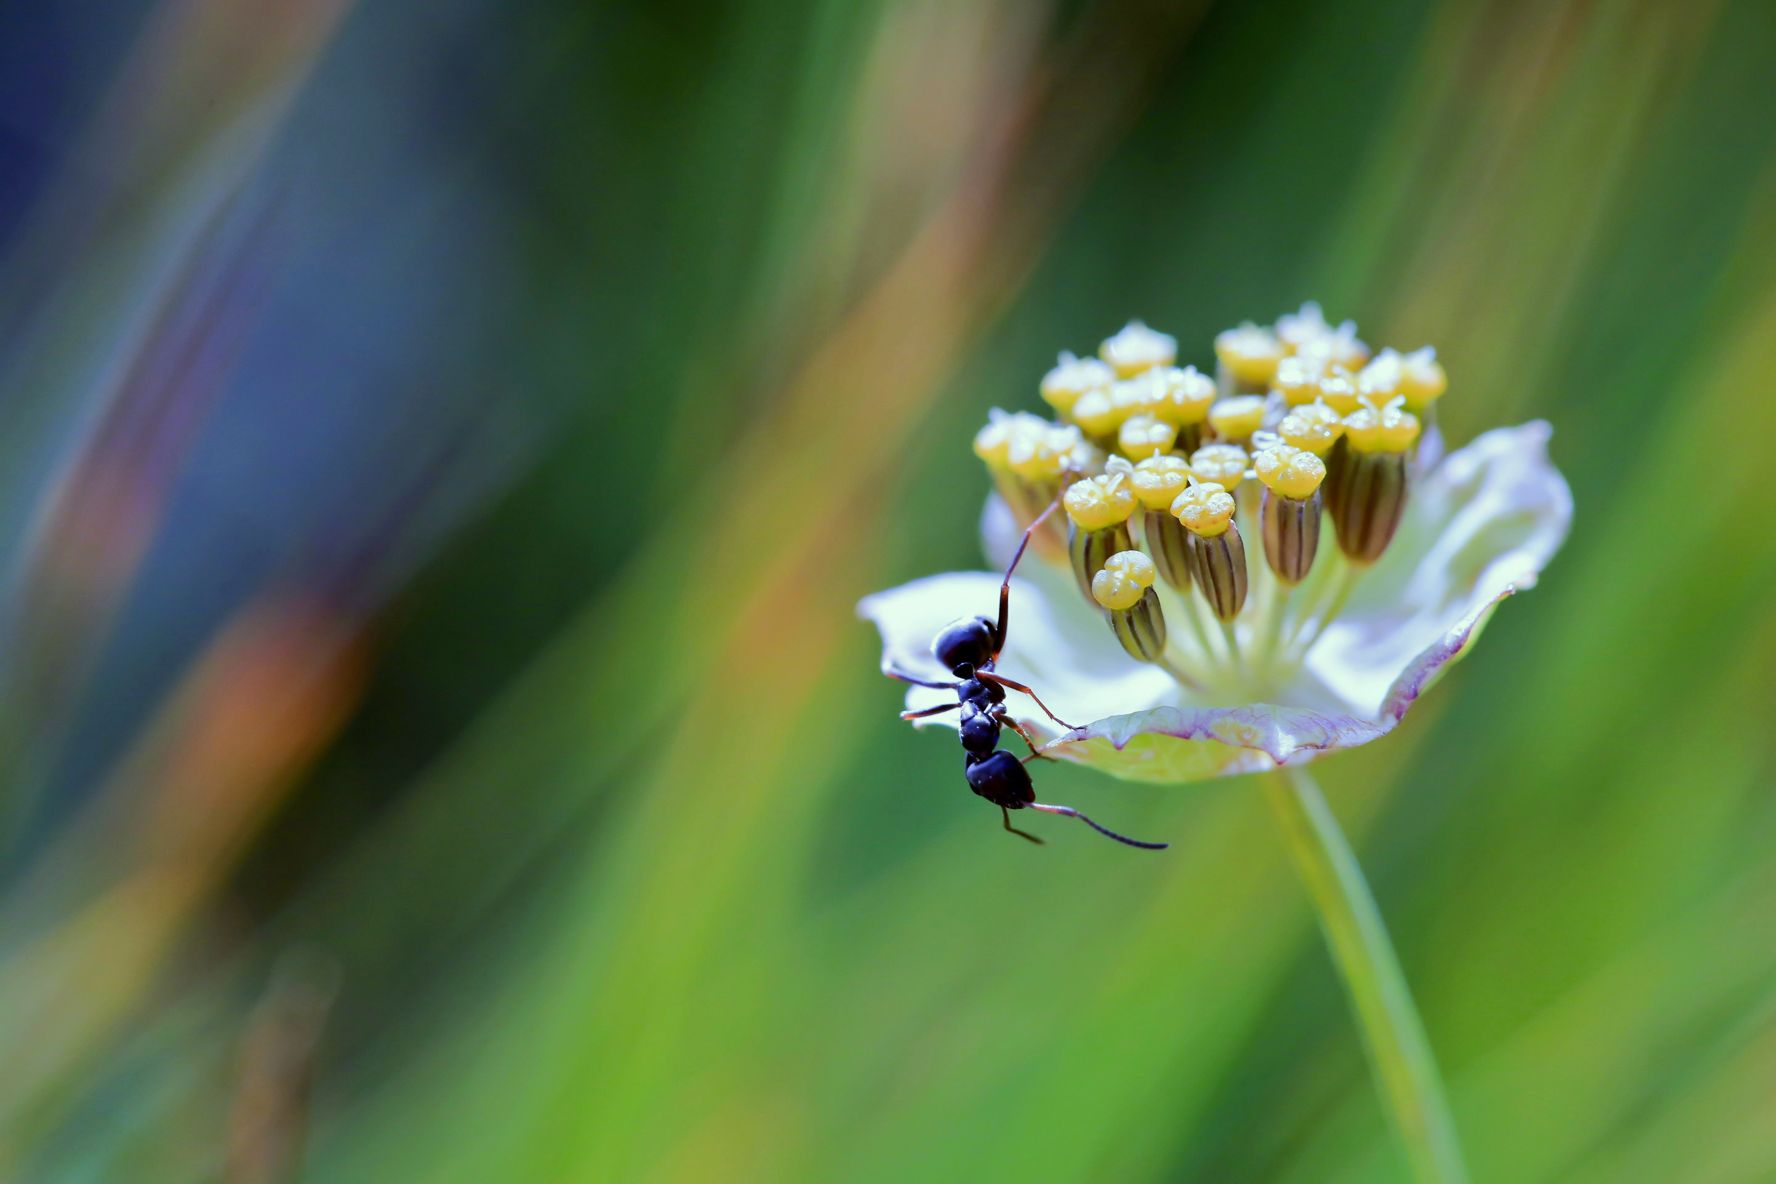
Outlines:
[[[996,669],[1076,726],[1064,731],[1021,694],[1011,694],[1011,714],[1046,754],[1138,781],[1257,772],[1385,735],[1474,644],[1499,602],[1534,586],[1565,540],[1572,493],[1549,462],[1549,435],[1540,421],[1499,428],[1439,458],[1431,428],[1382,557],[1373,566],[1346,561],[1328,524],[1312,573],[1293,589],[1265,568],[1249,493],[1241,522],[1254,595],[1222,627],[1199,591],[1160,588],[1170,628],[1162,664],[1124,653],[1058,547],[1032,549],[1011,580]],[[1005,501],[991,495],[982,536],[1000,572],[1019,533]],[[881,630],[883,669],[948,682],[931,657],[932,637],[955,618],[993,616],[1000,580],[950,572],[867,596],[858,612]],[[911,687],[906,705],[954,698]],[[920,722],[947,721],[954,715]]]

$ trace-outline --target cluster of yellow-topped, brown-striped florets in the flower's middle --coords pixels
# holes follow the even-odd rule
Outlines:
[[[1060,499],[1037,554],[1073,568],[1131,657],[1250,699],[1293,678],[1387,552],[1447,376],[1430,346],[1371,359],[1316,304],[1213,348],[1209,380],[1131,321],[1043,376],[1058,422],[995,410],[975,453],[1019,527]]]

